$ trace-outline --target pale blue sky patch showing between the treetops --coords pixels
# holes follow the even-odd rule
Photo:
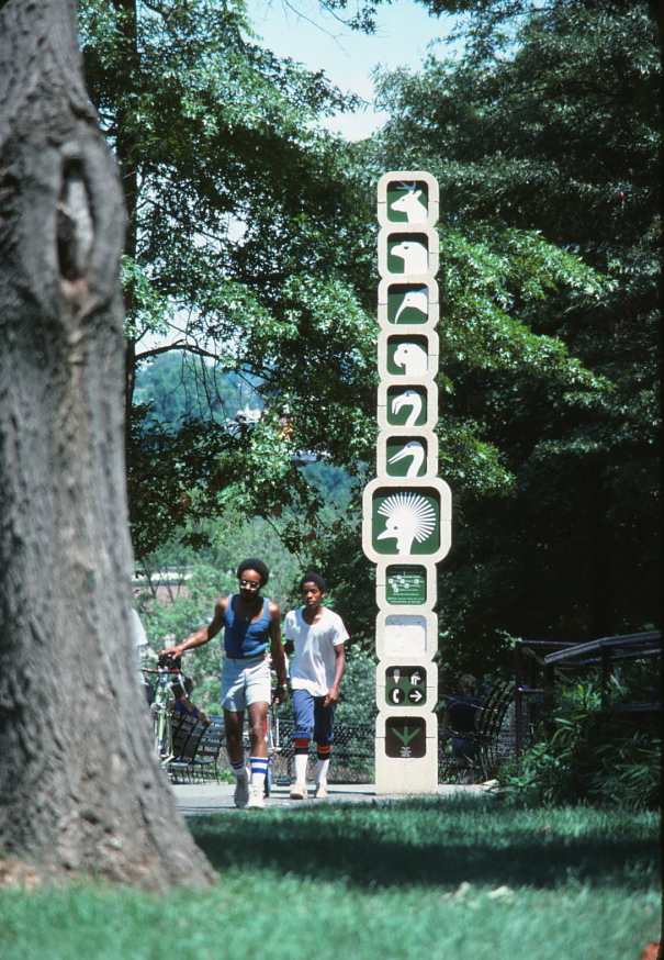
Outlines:
[[[371,101],[376,66],[417,67],[427,45],[444,37],[452,18],[434,18],[415,0],[394,0],[378,9],[376,33],[367,36],[320,10],[317,0],[248,0],[254,29],[278,56],[323,69],[344,90]],[[349,4],[352,9],[352,4]],[[440,51],[442,55],[442,49]],[[448,52],[449,55],[449,52]],[[349,139],[367,136],[383,118],[371,109],[326,123]]]

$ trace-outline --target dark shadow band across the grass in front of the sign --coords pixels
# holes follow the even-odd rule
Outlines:
[[[657,889],[659,828],[629,813],[532,814],[500,801],[233,812],[191,822],[221,872],[244,864],[279,875],[390,888],[460,883],[544,889],[567,882]]]

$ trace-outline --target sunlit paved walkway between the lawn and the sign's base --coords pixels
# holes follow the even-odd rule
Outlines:
[[[491,789],[489,784],[483,783],[472,785],[444,783],[438,786],[437,795],[452,796],[455,793],[484,793],[488,789]],[[233,802],[235,784],[232,783],[178,783],[172,785],[172,790],[176,794],[178,806],[185,816],[222,813],[236,808]],[[289,795],[290,786],[277,785],[266,800],[266,808],[294,807],[303,806],[304,804],[317,806],[324,803],[383,803],[389,800],[408,799],[403,794],[376,794],[375,786],[372,783],[333,783],[328,791],[329,796],[327,800],[314,800],[313,796],[308,800],[291,800]],[[310,785],[310,792],[313,794],[313,785]]]

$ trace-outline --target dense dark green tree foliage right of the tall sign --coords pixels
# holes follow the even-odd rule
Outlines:
[[[508,669],[659,617],[660,48],[646,2],[427,5],[468,55],[384,75],[372,150],[441,190],[443,667]]]

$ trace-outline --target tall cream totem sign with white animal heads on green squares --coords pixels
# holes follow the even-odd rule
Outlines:
[[[379,181],[379,437],[362,526],[376,565],[376,793],[438,786],[436,565],[451,545],[436,436],[438,202],[430,174]]]

